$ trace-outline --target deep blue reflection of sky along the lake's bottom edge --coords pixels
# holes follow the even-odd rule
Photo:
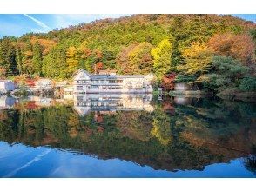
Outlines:
[[[90,155],[46,147],[0,142],[0,176],[3,177],[253,177],[242,159],[212,164],[203,171],[168,172],[119,159],[100,160]]]

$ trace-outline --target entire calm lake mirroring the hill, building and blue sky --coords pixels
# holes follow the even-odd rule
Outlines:
[[[256,177],[256,104],[0,97],[1,177]]]

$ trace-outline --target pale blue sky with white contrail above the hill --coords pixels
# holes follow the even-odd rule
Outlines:
[[[89,23],[102,18],[118,18],[131,16],[128,14],[100,14],[100,15],[53,15],[53,14],[0,14],[0,38],[3,36],[22,36],[25,33],[48,32],[53,29],[65,28],[78,23]],[[256,23],[256,15],[233,15]]]

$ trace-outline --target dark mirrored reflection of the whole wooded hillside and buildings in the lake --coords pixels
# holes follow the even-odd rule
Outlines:
[[[76,95],[69,100],[29,97],[6,105],[0,112],[2,142],[72,150],[100,160],[118,158],[151,167],[156,174],[205,170],[244,157],[243,167],[255,175],[254,103]]]

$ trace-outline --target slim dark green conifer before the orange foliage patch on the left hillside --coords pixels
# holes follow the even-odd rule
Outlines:
[[[42,73],[42,52],[41,46],[38,41],[34,44],[33,47],[33,58],[32,58],[32,65],[37,76],[40,76]]]

